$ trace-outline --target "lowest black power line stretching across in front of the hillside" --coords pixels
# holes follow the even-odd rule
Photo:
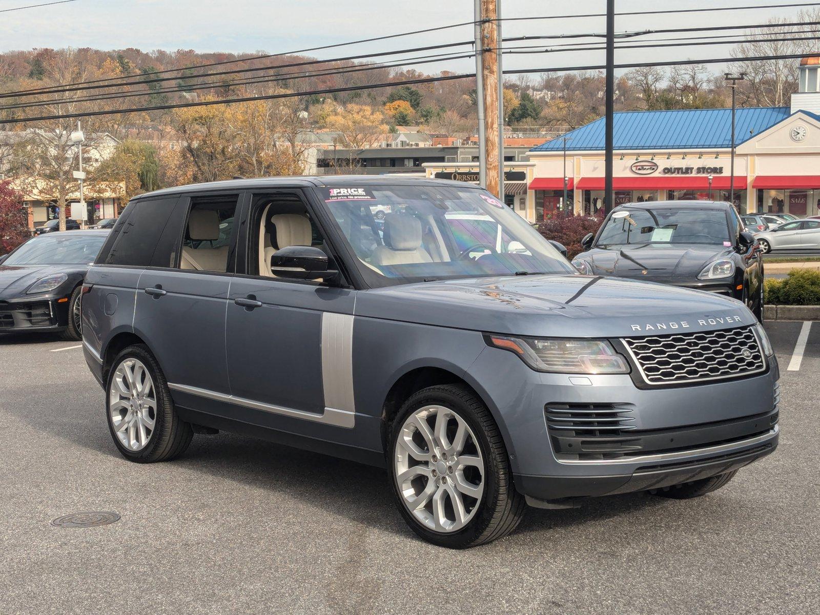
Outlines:
[[[680,60],[680,61],[672,61],[672,62],[640,62],[635,64],[617,64],[615,65],[616,69],[625,69],[625,68],[644,68],[650,66],[690,66],[694,64],[725,64],[727,62],[763,62],[766,60],[788,60],[788,59],[801,59],[805,57],[804,53],[790,53],[790,54],[780,54],[780,55],[768,55],[768,56],[753,56],[753,57],[722,57],[722,58],[705,58],[699,60]],[[514,71],[503,71],[505,75],[525,75],[525,74],[534,74],[534,73],[558,73],[558,72],[572,72],[572,71],[599,71],[604,69],[605,66],[602,65],[593,65],[593,66],[562,66],[558,68],[533,68],[533,69],[518,69]],[[51,116],[32,116],[32,117],[21,117],[15,118],[10,120],[0,120],[0,124],[21,124],[24,122],[30,121],[45,121],[45,120],[67,120],[67,119],[75,119],[75,118],[83,118],[83,117],[91,117],[91,116],[107,116],[107,115],[123,115],[125,113],[134,113],[134,112],[150,112],[150,111],[164,111],[166,109],[179,109],[179,108],[186,108],[186,107],[211,107],[213,105],[224,105],[224,104],[235,104],[235,103],[249,103],[256,100],[272,100],[278,98],[298,98],[302,96],[312,96],[315,94],[329,94],[329,93],[340,93],[340,92],[355,92],[360,91],[363,89],[380,89],[380,88],[392,88],[396,87],[397,85],[414,85],[414,84],[427,84],[427,83],[437,83],[440,81],[453,81],[453,80],[462,80],[462,79],[472,79],[475,78],[475,73],[464,73],[458,75],[440,75],[437,77],[426,77],[422,79],[414,79],[414,80],[403,80],[403,81],[393,81],[389,83],[380,83],[380,84],[367,84],[367,85],[354,85],[348,86],[344,88],[331,88],[331,89],[317,89],[311,90],[306,92],[297,92],[297,93],[277,93],[277,94],[265,94],[262,96],[248,96],[242,98],[223,98],[221,100],[208,100],[208,101],[197,101],[194,103],[175,103],[175,104],[167,104],[167,105],[155,105],[153,107],[130,107],[126,109],[112,109],[112,110],[105,110],[105,111],[93,111],[93,112],[84,112],[84,113],[62,113],[62,114],[55,114]]]

